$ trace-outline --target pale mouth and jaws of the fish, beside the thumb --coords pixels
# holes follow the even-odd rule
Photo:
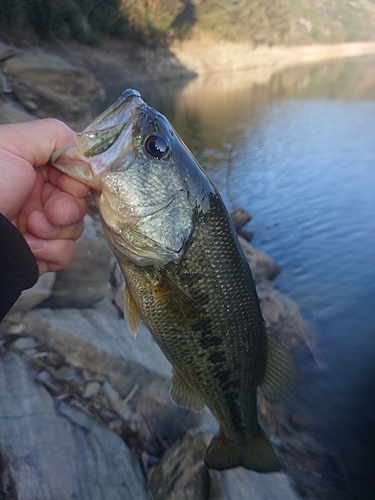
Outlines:
[[[89,187],[101,190],[101,176],[135,156],[132,126],[144,105],[137,90],[124,90],[88,127],[53,153],[50,163]]]

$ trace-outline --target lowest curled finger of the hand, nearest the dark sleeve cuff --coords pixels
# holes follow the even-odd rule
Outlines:
[[[42,240],[31,234],[26,234],[25,239],[38,262],[40,274],[66,267],[77,251],[74,240]]]

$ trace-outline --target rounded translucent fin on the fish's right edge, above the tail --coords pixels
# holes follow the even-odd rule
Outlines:
[[[268,335],[266,373],[259,387],[271,404],[280,403],[294,390],[297,368],[289,352]]]

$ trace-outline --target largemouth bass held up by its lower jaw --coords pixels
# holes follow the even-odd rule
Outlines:
[[[257,391],[279,403],[295,364],[271,336],[219,192],[169,121],[125,90],[51,163],[87,184],[126,282],[124,315],[145,323],[172,364],[170,397],[220,424],[207,467],[272,472]]]

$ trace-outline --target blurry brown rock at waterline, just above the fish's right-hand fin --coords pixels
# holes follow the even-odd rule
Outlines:
[[[266,281],[257,284],[257,293],[262,314],[272,335],[289,351],[302,342],[311,347],[308,330],[297,304]]]

